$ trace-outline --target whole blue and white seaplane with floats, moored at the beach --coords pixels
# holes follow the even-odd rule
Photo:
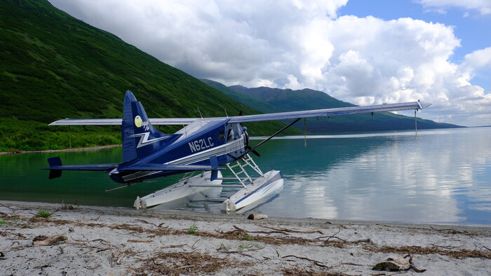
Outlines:
[[[124,188],[133,184],[184,174],[176,184],[159,191],[137,197],[137,209],[154,207],[166,202],[206,195],[217,188],[240,189],[222,202],[222,211],[241,212],[252,209],[272,193],[283,188],[280,171],[263,173],[250,153],[260,156],[256,149],[302,118],[340,116],[356,113],[415,110],[430,106],[428,102],[405,102],[370,106],[350,106],[335,109],[315,109],[281,113],[263,113],[246,116],[215,118],[148,118],[141,102],[133,92],[126,91],[123,102],[123,118],[62,119],[50,125],[121,125],[123,162],[114,164],[62,165],[60,157],[48,158],[49,179],[61,177],[62,171],[102,171]],[[249,145],[247,128],[241,123],[289,120],[292,122],[255,146]],[[173,134],[164,134],[154,125],[184,125]],[[222,170],[229,170],[231,177],[224,177]],[[197,175],[194,175],[197,174]],[[222,183],[236,181],[235,185]],[[109,189],[112,191],[116,188]]]

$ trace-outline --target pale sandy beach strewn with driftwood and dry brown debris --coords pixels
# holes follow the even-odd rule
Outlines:
[[[411,268],[372,270],[387,258],[411,259]],[[487,226],[250,220],[245,215],[0,201],[1,275],[490,275],[490,271]]]

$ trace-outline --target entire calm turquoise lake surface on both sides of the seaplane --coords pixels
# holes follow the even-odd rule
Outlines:
[[[274,139],[259,148],[263,172],[281,170],[280,195],[252,212],[270,216],[491,225],[491,127]],[[252,141],[257,143],[259,141]],[[180,177],[117,191],[102,172],[63,172],[48,181],[46,158],[119,163],[121,148],[0,156],[0,199],[133,206]],[[175,209],[220,212],[218,202]]]

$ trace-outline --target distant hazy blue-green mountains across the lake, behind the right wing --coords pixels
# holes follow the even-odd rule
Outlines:
[[[225,95],[264,113],[355,106],[349,102],[342,102],[339,99],[330,97],[325,92],[311,89],[245,88],[241,85],[227,87],[215,81],[201,81],[220,90]],[[304,123],[299,122],[295,127],[303,130]],[[323,133],[412,130],[415,128],[415,118],[390,112],[374,113],[373,116],[370,113],[352,114],[347,116],[332,116],[331,118],[311,118],[307,120],[306,127],[309,132]],[[417,127],[419,129],[431,129],[459,126],[417,118]]]

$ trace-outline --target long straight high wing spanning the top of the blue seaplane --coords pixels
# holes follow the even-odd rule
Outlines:
[[[356,113],[370,113],[383,111],[399,111],[410,109],[424,109],[430,106],[429,102],[405,102],[401,104],[377,104],[369,106],[349,106],[335,109],[312,109],[306,111],[291,111],[280,113],[267,113],[246,116],[229,117],[229,123],[248,123],[262,120],[285,120],[295,118],[311,118],[323,116],[337,116]],[[217,118],[149,118],[152,125],[189,125],[195,120],[227,119]],[[63,119],[57,120],[50,125],[121,125],[122,119]]]

